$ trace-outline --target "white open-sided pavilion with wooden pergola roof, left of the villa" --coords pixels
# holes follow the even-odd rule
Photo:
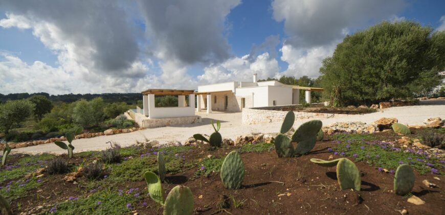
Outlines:
[[[149,119],[195,116],[195,97],[193,93],[194,90],[148,89],[142,91],[144,115],[148,116]],[[155,107],[154,96],[177,96],[178,106]],[[186,96],[189,96],[188,106]]]

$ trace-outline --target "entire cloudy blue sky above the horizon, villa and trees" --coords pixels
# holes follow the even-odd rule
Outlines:
[[[320,75],[383,20],[445,30],[433,0],[0,0],[0,93],[128,93]]]

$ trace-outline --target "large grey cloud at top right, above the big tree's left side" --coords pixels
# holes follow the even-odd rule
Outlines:
[[[406,7],[404,0],[275,0],[273,17],[284,22],[287,44],[307,48],[330,44],[343,29],[362,27]]]

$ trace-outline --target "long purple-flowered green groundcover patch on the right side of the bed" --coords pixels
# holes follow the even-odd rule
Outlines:
[[[406,163],[425,175],[433,169],[441,169],[440,160],[434,157],[428,158],[423,151],[415,152],[413,149],[401,149],[392,147],[388,143],[380,141],[347,140],[336,147],[328,149],[332,153],[354,157],[355,161],[364,161],[369,165],[395,170],[400,164]],[[443,171],[437,170],[443,175]]]

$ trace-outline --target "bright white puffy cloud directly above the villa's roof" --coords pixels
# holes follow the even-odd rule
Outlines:
[[[278,61],[265,52],[253,61],[249,55],[233,57],[225,62],[204,68],[204,74],[197,77],[200,84],[227,81],[252,81],[252,75],[258,74],[259,79],[276,77],[279,73]]]

